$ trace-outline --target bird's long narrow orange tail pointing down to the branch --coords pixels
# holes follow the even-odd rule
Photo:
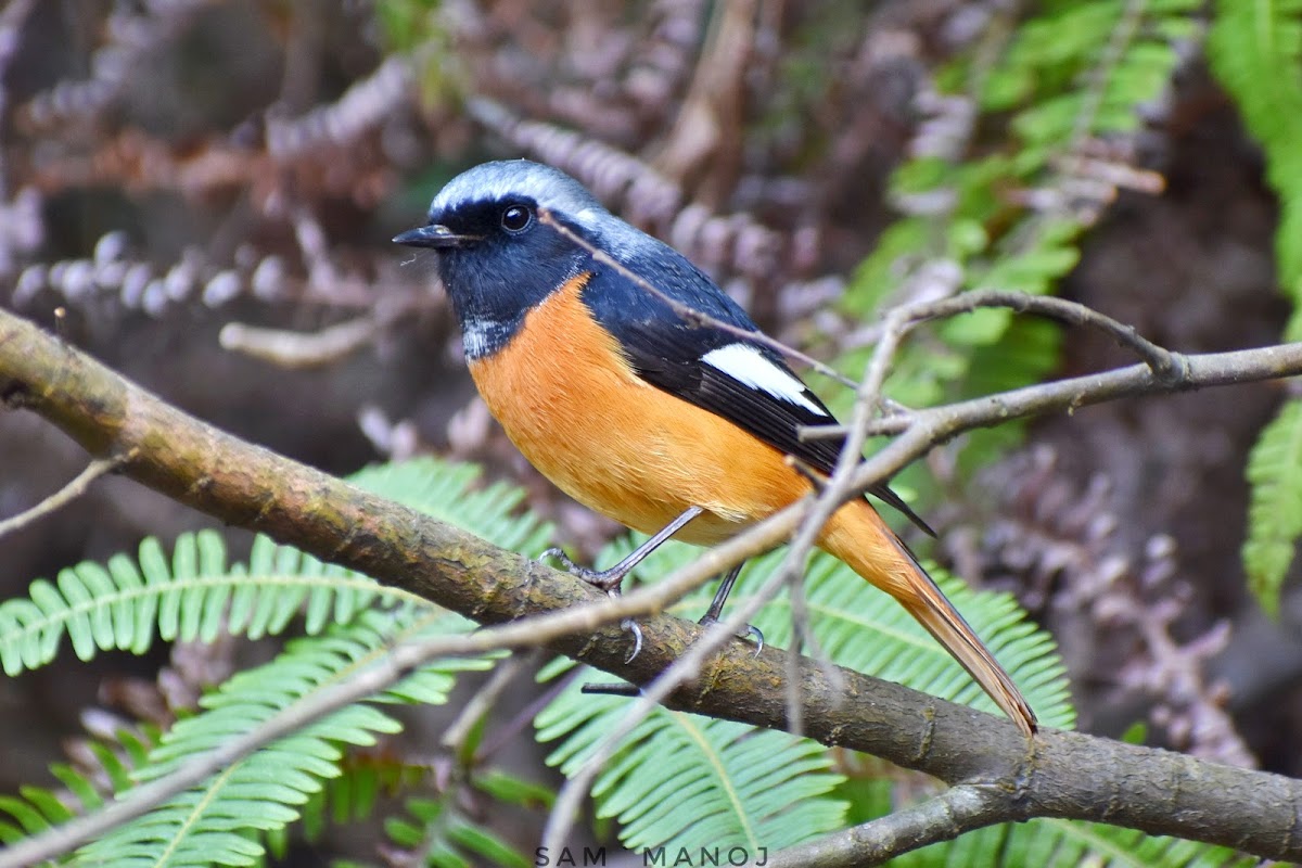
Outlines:
[[[841,508],[824,528],[819,547],[898,600],[1027,738],[1035,734],[1035,713],[1012,677],[867,501]]]

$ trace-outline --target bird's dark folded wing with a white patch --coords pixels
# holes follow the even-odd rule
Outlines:
[[[674,301],[729,325],[759,331],[736,302],[669,247],[655,262],[630,263],[630,268],[651,275],[656,289]],[[717,328],[689,324],[664,301],[612,271],[592,275],[583,301],[651,385],[728,419],[820,472],[836,467],[844,439],[799,437],[802,427],[836,424],[836,418],[776,353]],[[936,535],[885,483],[868,492]]]

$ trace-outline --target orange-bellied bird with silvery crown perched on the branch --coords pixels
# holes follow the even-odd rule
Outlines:
[[[602,587],[671,535],[713,545],[810,493],[788,455],[832,472],[841,442],[799,429],[836,419],[780,355],[746,338],[759,329],[745,311],[568,174],[486,163],[443,187],[427,225],[393,241],[437,254],[470,375],[525,457],[574,500],[654,535],[613,570],[578,570]],[[887,485],[871,493],[926,528]],[[1034,734],[1013,679],[866,498],[841,506],[818,545],[898,600]]]

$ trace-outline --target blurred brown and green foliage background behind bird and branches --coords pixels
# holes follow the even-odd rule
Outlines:
[[[501,156],[570,172],[850,376],[883,307],[979,288],[1073,298],[1172,350],[1258,346],[1298,333],[1299,55],[1302,3],[8,0],[0,303],[332,472],[423,453],[482,463],[595,556],[618,528],[516,454],[474,397],[428,262],[387,242],[453,174]],[[1098,336],[982,311],[921,329],[889,393],[928,406],[1129,362]],[[1082,729],[1144,721],[1152,743],[1297,776],[1290,394],[1254,384],[973,432],[901,483],[940,530],[927,554],[1052,632]],[[36,419],[0,415],[0,515],[82,463]],[[0,539],[0,597],[207,526],[102,480]],[[279,647],[177,640],[0,681],[0,791],[69,756],[113,778],[87,730],[167,730]],[[477,685],[458,679],[445,708]],[[534,700],[508,691],[490,720],[518,731]],[[552,748],[508,739],[480,787],[428,756],[454,717],[410,713],[405,735],[352,753],[307,822],[370,816],[376,793],[401,790],[417,800],[376,833],[387,842],[345,852],[529,852]],[[837,816],[927,786],[825,763],[824,783],[849,778]],[[1077,852],[1073,833],[1043,835]],[[315,864],[301,839],[277,845],[286,864]],[[971,846],[1021,852],[1009,841]]]

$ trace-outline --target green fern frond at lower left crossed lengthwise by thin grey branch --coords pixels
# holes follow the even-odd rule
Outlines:
[[[473,625],[432,610],[365,612],[354,623],[290,642],[273,661],[242,671],[203,698],[204,712],[178,722],[137,770],[138,781],[164,777],[198,753],[242,735],[283,708],[383,660],[397,642],[458,632]],[[447,701],[456,673],[484,669],[486,657],[439,661],[380,700]],[[148,815],[115,829],[77,854],[77,864],[247,865],[263,855],[254,830],[273,832],[298,819],[299,807],[340,773],[345,744],[370,746],[401,729],[371,704],[354,704],[241,760]],[[161,855],[160,855],[161,854]]]

